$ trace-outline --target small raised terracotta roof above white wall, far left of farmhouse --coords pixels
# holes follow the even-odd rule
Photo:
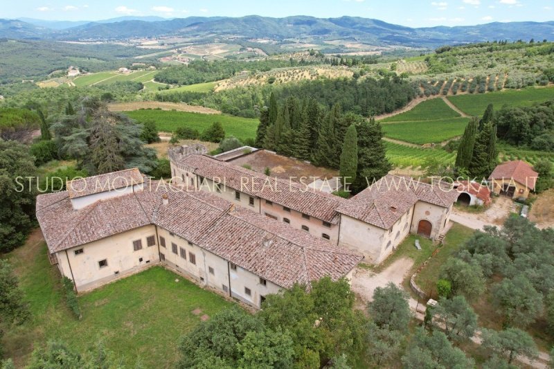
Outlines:
[[[143,183],[144,179],[138,168],[120,170],[98,176],[74,179],[67,183],[67,192],[70,199],[93,195],[98,192],[109,190],[117,190],[118,188],[127,187]]]

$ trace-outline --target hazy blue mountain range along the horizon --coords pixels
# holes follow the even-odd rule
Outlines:
[[[104,21],[0,19],[0,37],[15,39],[114,40],[159,36],[287,39],[317,43],[348,40],[378,46],[436,47],[443,44],[554,39],[554,21],[490,23],[477,26],[410,28],[361,17],[120,17]]]

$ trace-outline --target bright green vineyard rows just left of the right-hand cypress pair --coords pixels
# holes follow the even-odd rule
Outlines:
[[[431,160],[436,160],[443,164],[452,164],[456,159],[456,152],[449,153],[441,149],[424,149],[419,147],[409,147],[398,143],[384,142],[386,148],[386,157],[395,167],[406,168],[427,164]]]

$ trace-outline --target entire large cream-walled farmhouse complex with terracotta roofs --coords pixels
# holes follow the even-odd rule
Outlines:
[[[408,233],[436,239],[456,191],[388,175],[352,199],[206,156],[170,151],[173,181],[138,169],[76,179],[37,197],[51,262],[85,291],[152,264],[260,307],[265,295],[350,278]]]

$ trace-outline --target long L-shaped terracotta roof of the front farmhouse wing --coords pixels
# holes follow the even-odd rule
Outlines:
[[[50,253],[155,224],[282,287],[340,278],[363,259],[208,192],[157,181],[80,210],[73,210],[67,192],[39,195],[37,219]]]

